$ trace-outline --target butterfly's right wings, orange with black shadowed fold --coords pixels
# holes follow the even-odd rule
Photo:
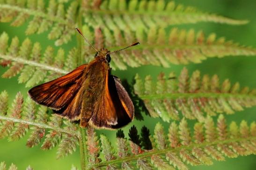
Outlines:
[[[118,129],[132,122],[134,106],[117,77],[109,75],[107,83],[106,97],[95,108],[89,124],[95,128]]]

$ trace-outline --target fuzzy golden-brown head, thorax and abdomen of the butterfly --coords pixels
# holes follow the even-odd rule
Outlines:
[[[107,61],[107,49],[102,48],[99,53],[95,54],[95,59],[90,61],[84,73],[81,84],[81,124],[88,122],[90,116],[99,108],[98,103],[102,103],[102,96],[105,95],[105,89],[108,85],[107,80],[110,75],[110,65]]]

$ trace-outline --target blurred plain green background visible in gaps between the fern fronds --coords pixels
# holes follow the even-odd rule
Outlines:
[[[204,30],[206,35],[214,32],[218,37],[225,36],[227,40],[234,40],[246,46],[252,46],[256,48],[256,0],[176,0],[177,3],[183,3],[186,6],[197,7],[202,11],[216,13],[224,15],[234,19],[248,19],[249,24],[241,26],[229,26],[225,24],[215,23],[197,23],[178,26],[180,28],[195,28],[196,30]],[[28,23],[28,22],[27,22]],[[10,27],[9,23],[0,23],[0,33],[7,32],[10,37],[15,35],[23,41],[27,36],[25,35],[26,25],[22,27]],[[48,45],[54,46],[53,41],[47,40],[48,32],[44,34],[34,34],[28,37],[33,41],[41,43],[43,48]],[[66,52],[75,46],[76,39],[62,46]],[[58,48],[55,48],[58,49]],[[113,58],[113,60],[115,60]],[[156,78],[157,74],[161,71],[169,73],[170,71],[176,71],[179,74],[183,65],[172,66],[171,68],[161,68],[153,66],[143,66],[140,68],[128,68],[125,71],[113,71],[114,75],[119,76],[121,79],[128,79],[132,81],[133,76],[139,73],[142,77],[151,74]],[[190,64],[186,66],[190,74],[192,71],[198,69],[202,74],[217,74],[220,81],[229,78],[234,82],[240,82],[241,86],[249,86],[249,88],[256,88],[256,56],[228,56],[222,59],[210,58],[203,61],[200,64]],[[0,68],[0,74],[4,73],[6,68]],[[6,89],[9,93],[10,101],[14,99],[15,94],[21,91],[26,96],[28,88],[24,88],[24,84],[18,84],[17,76],[11,79],[0,78],[0,91]],[[153,119],[143,114],[144,122],[137,120],[133,121],[130,125],[124,128],[125,135],[128,133],[128,129],[135,124],[138,129],[143,125],[146,125],[151,133],[154,131],[156,122],[162,122],[161,119]],[[225,115],[227,122],[235,121],[240,123],[242,119],[248,122],[256,120],[256,108],[245,109],[244,111],[237,112],[234,115]],[[194,121],[190,121],[193,125]],[[162,122],[165,125],[165,129],[168,129],[168,123]],[[111,142],[115,143],[116,131],[97,130],[98,134],[104,133],[107,135]],[[28,135],[27,135],[28,136]],[[36,146],[32,149],[27,148],[26,137],[17,142],[8,142],[7,139],[0,140],[0,161],[5,161],[8,165],[15,163],[20,170],[25,169],[29,164],[34,170],[69,170],[71,165],[74,164],[80,167],[79,148],[71,156],[67,156],[63,159],[56,160],[56,151],[53,149],[50,151],[43,151],[40,146]],[[191,170],[255,170],[256,169],[256,156],[240,156],[235,159],[227,158],[224,162],[214,162],[212,166],[200,165],[196,167],[190,167]]]

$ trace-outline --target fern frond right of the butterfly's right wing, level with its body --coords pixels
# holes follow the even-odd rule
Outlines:
[[[145,81],[136,75],[135,80],[135,93],[144,101],[150,115],[160,116],[166,122],[179,120],[178,110],[188,119],[204,121],[205,113],[210,116],[233,114],[256,105],[255,90],[240,89],[238,82],[231,86],[228,79],[220,84],[217,75],[201,78],[198,70],[191,77],[183,68],[179,78],[172,72],[168,76],[161,73],[157,82],[150,75]]]

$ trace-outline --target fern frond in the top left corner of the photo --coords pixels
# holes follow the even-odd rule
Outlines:
[[[64,5],[56,0],[50,0],[47,6],[44,0],[1,1],[0,21],[12,21],[11,25],[18,27],[28,20],[29,16],[33,16],[26,34],[40,34],[50,30],[48,38],[57,39],[55,45],[58,46],[67,43],[74,34],[77,7],[77,2],[72,2],[65,10]]]

